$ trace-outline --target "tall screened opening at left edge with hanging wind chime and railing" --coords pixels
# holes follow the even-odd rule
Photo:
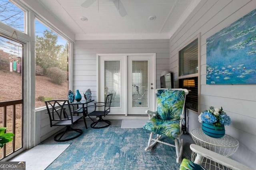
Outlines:
[[[23,45],[0,36],[0,125],[15,135],[6,144],[6,155],[22,147],[22,62]]]

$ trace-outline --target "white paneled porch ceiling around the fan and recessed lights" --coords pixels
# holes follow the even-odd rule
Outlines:
[[[37,0],[77,35],[170,35],[195,0],[120,0],[127,12],[121,17],[110,0]],[[156,16],[153,21],[149,16]],[[183,15],[183,18],[182,18]],[[81,16],[88,21],[80,20]],[[166,37],[167,38],[167,37]]]

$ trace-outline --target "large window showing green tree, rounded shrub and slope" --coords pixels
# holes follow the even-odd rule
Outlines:
[[[38,20],[36,25],[36,108],[45,100],[67,99],[69,42]]]

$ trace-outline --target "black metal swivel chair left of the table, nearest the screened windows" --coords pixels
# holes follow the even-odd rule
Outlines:
[[[45,101],[45,104],[47,108],[46,113],[48,113],[50,118],[50,126],[66,126],[65,131],[62,131],[54,136],[54,141],[70,141],[82,135],[83,131],[81,129],[72,128],[72,126],[81,118],[84,119],[84,124],[87,129],[84,116],[72,116],[72,111],[68,100],[47,100]],[[74,131],[77,134],[69,137],[69,135],[65,135],[68,131]]]

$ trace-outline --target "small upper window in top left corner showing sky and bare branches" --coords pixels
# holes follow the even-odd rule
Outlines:
[[[25,11],[10,2],[0,0],[0,21],[21,32],[25,32]]]

